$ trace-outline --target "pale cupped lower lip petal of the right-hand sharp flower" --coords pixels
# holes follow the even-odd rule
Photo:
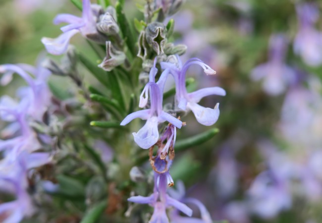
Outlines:
[[[197,103],[188,103],[189,109],[194,113],[197,121],[200,124],[210,126],[215,124],[219,117],[219,103],[216,104],[214,109],[205,108]]]

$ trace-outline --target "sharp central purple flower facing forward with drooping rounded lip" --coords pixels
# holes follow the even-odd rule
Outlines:
[[[150,89],[151,108],[135,111],[127,115],[121,122],[121,125],[126,125],[134,118],[147,120],[146,124],[137,133],[133,132],[134,141],[143,149],[149,149],[157,143],[159,139],[158,123],[168,121],[177,128],[181,128],[182,126],[182,121],[162,111],[162,91],[159,85],[154,82],[154,77],[156,75],[155,65],[150,71],[150,82],[147,83],[141,94],[139,105],[139,107],[142,108],[147,104]],[[145,98],[143,97],[144,94],[146,96]]]

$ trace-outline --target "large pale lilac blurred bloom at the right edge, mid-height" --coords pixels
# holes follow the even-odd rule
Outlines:
[[[321,109],[322,97],[312,88],[294,87],[287,93],[279,128],[293,148],[316,149],[321,147]],[[309,134],[303,134],[303,132]]]

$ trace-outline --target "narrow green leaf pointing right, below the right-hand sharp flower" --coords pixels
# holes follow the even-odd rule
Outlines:
[[[208,131],[189,137],[187,139],[178,140],[175,143],[174,151],[182,151],[190,147],[200,145],[210,140],[211,138],[213,138],[218,132],[219,132],[218,128],[212,128]]]

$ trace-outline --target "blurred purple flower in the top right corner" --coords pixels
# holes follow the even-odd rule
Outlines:
[[[314,3],[296,5],[299,20],[299,31],[294,40],[294,53],[311,66],[322,63],[322,33],[315,29],[319,19],[319,8]]]

